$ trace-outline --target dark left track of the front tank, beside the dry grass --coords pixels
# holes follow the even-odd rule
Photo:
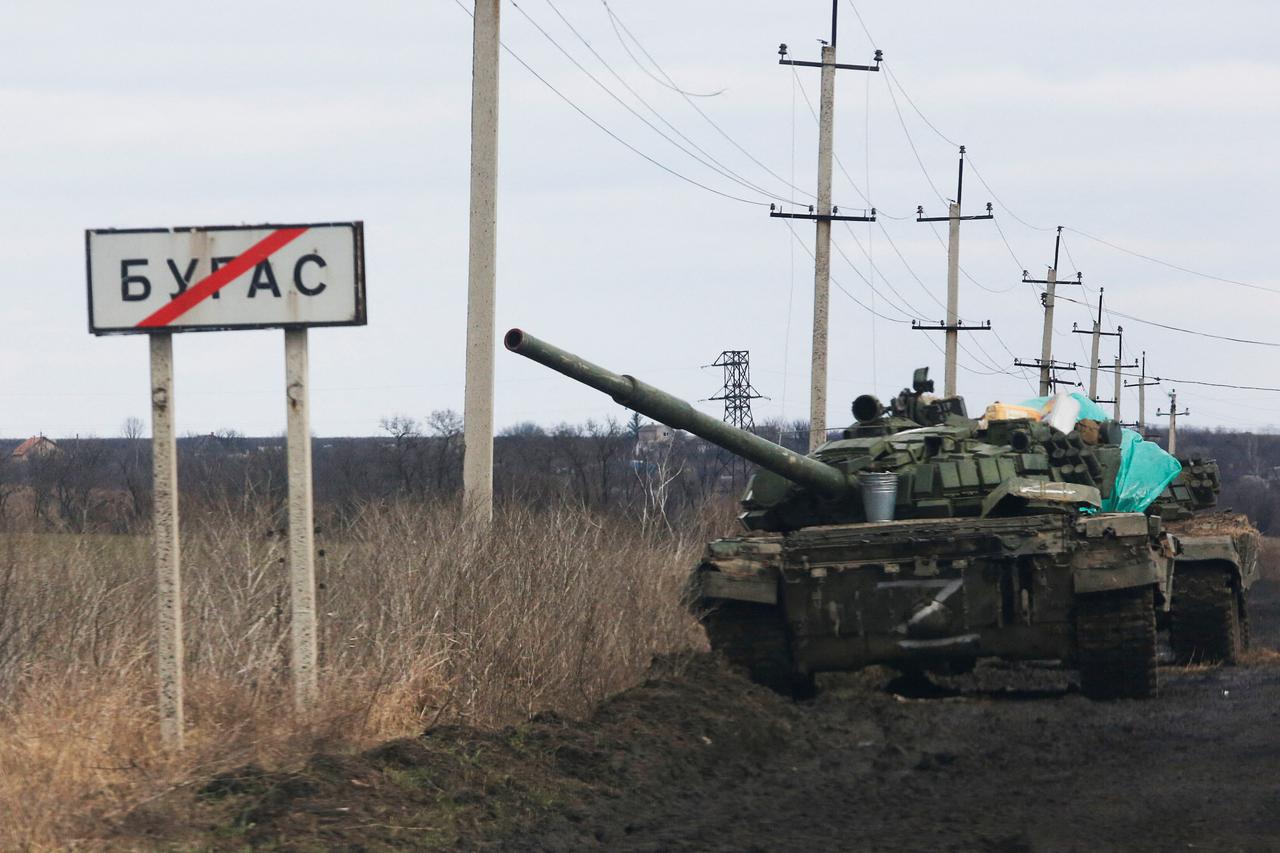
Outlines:
[[[703,615],[703,626],[712,651],[746,667],[756,684],[796,699],[813,695],[813,675],[796,670],[786,625],[776,607],[721,601]]]

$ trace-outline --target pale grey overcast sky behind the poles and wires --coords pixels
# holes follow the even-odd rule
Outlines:
[[[618,137],[742,201],[641,159],[504,54],[499,334],[520,325],[690,400],[719,387],[718,370],[701,365],[721,350],[750,350],[754,383],[768,397],[756,401],[756,420],[806,416],[813,225],[797,224],[797,241],[769,219],[767,204],[771,196],[804,204],[788,183],[814,188],[817,133],[805,96],[817,105],[818,72],[792,73],[776,51],[785,41],[792,58],[817,59],[829,4],[609,0],[608,8],[636,37],[626,44],[636,59],[648,51],[681,88],[718,93],[686,100],[657,82],[655,68],[628,55],[599,0],[504,3],[503,38]],[[1280,293],[1256,289],[1280,291],[1276,4],[861,0],[859,10],[874,44],[841,0],[838,59],[864,63],[879,47],[892,77],[838,74],[844,170],[835,200],[849,211],[865,206],[863,192],[884,215],[833,231],[833,277],[847,295],[833,286],[832,425],[849,420],[852,397],[888,397],[913,368],[929,365],[941,388],[932,346],[941,336],[906,320],[943,314],[945,227],[914,222],[914,210],[943,214],[934,187],[955,193],[956,149],[946,140],[968,146],[996,193],[970,170],[965,213],[998,199],[1009,240],[1006,247],[991,222],[963,228],[961,265],[972,279],[961,279],[960,313],[996,329],[963,341],[960,391],[970,410],[1029,396],[1034,377],[998,371],[1011,370],[1010,352],[1039,352],[1039,300],[1019,279],[1023,268],[1043,277],[1059,224],[1254,286],[1176,272],[1066,232],[1061,275],[1078,265],[1093,298],[1106,288],[1108,309],[1280,342]],[[698,156],[754,187],[641,123],[525,13],[667,136],[686,149],[696,143],[707,152]],[[0,437],[115,435],[127,418],[147,416],[146,342],[87,332],[83,231],[105,227],[364,220],[369,325],[312,333],[315,432],[372,434],[384,416],[461,410],[470,96],[471,18],[453,0],[6,4]],[[874,302],[883,318],[855,298]],[[1088,341],[1071,334],[1073,323],[1087,327],[1087,309],[1060,304],[1053,355],[1085,361]],[[1117,323],[1125,355],[1146,350],[1152,374],[1280,387],[1274,347],[1120,316],[1103,325]],[[179,430],[280,433],[282,337],[178,336]],[[1114,342],[1103,342],[1107,361]],[[1102,387],[1110,397],[1110,377]],[[1280,425],[1280,393],[1185,382],[1152,389],[1148,418],[1157,405],[1167,409],[1170,388],[1190,409],[1189,425]],[[625,416],[603,396],[506,352],[497,393],[499,428]],[[1128,393],[1123,414],[1132,419],[1137,400]]]

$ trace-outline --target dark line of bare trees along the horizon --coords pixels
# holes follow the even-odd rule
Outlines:
[[[737,497],[750,465],[687,433],[645,429],[639,415],[581,424],[512,425],[494,441],[498,501],[563,503],[673,520],[709,501]],[[317,523],[353,517],[369,502],[448,501],[462,489],[462,418],[393,415],[374,437],[315,438]],[[754,430],[804,452],[808,423]],[[666,433],[666,434],[664,434]],[[1152,435],[1161,441],[1161,435]],[[13,455],[0,441],[0,530],[142,532],[151,516],[151,442],[136,418],[114,438],[51,439],[52,450]],[[1245,512],[1263,533],[1280,528],[1280,435],[1179,430],[1179,455],[1216,459],[1221,508]],[[284,438],[233,429],[178,439],[183,506],[239,507],[283,528]]]

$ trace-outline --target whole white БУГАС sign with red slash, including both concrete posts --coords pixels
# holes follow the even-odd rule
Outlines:
[[[291,663],[294,701],[317,695],[307,328],[364,325],[364,225],[104,229],[84,234],[93,334],[151,336],[160,731],[182,747],[183,626],[173,334],[284,329]]]

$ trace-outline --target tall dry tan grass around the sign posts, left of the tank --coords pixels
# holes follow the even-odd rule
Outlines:
[[[0,538],[0,849],[65,845],[174,785],[434,721],[585,711],[700,643],[681,589],[707,532],[506,508],[372,506],[320,535],[324,699],[289,711],[284,543],[188,512],[188,745],[157,748],[152,565],[131,537]],[[722,524],[722,521],[721,521]]]

